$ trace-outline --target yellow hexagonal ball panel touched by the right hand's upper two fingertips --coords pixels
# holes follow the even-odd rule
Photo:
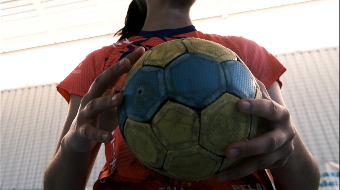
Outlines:
[[[237,109],[236,96],[225,93],[201,112],[200,145],[217,155],[236,141],[245,141],[249,135],[250,115]]]

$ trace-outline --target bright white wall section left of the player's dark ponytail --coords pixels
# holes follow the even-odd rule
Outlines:
[[[110,45],[113,35],[100,36],[0,54],[0,87],[62,81],[90,52]]]

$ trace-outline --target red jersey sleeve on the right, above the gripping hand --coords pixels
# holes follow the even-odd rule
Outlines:
[[[265,48],[259,46],[254,41],[241,38],[242,60],[248,66],[253,75],[261,81],[266,88],[277,81],[282,87],[280,76],[286,68]],[[241,55],[239,55],[241,57]]]

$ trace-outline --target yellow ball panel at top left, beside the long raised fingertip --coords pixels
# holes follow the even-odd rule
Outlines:
[[[185,46],[181,43],[182,39],[165,42],[152,48],[148,60],[144,65],[154,65],[166,67],[173,59],[186,52]]]

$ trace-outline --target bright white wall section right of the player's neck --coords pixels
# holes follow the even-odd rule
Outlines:
[[[206,33],[243,36],[273,54],[339,46],[339,0],[316,0],[197,20]]]

